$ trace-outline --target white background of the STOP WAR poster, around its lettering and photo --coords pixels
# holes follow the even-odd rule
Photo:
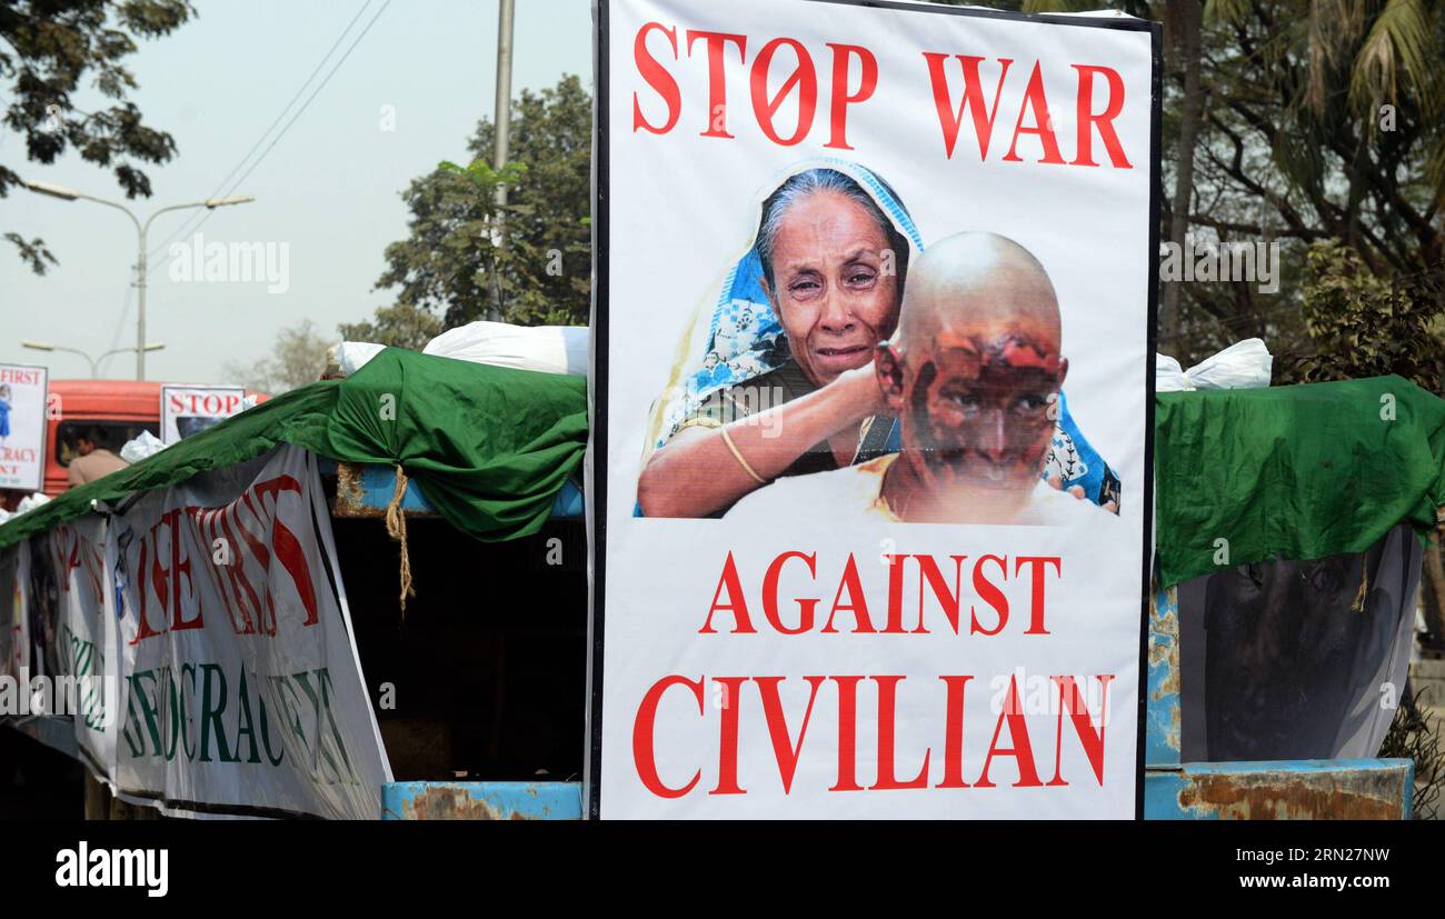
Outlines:
[[[603,733],[600,802],[603,816],[876,816],[876,818],[1129,818],[1134,814],[1139,701],[1140,610],[1144,545],[1149,298],[1152,35],[1147,30],[1020,22],[993,16],[948,14],[925,9],[870,9],[802,0],[734,0],[698,4],[679,0],[614,0],[605,16],[607,175],[610,249],[607,259],[607,353],[595,355],[607,374],[607,507],[603,652]],[[676,27],[678,59],[665,38],[649,49],[678,81],[678,127],[657,136],[633,129],[634,94],[644,117],[665,121],[657,92],[639,75],[634,39],[647,22]],[[708,127],[708,56],[696,40],[691,56],[686,32],[747,36],[747,56],[736,45],[725,61],[727,130],[736,139],[699,136]],[[757,51],[777,36],[808,48],[818,69],[818,114],[812,133],[796,146],[767,140],[753,116],[749,77]],[[853,150],[825,149],[829,75],[827,43],[861,45],[879,62],[874,95],[848,111]],[[952,159],[945,158],[923,52],[983,55],[985,101],[993,101],[998,58],[1013,59],[996,116],[987,159],[980,160],[971,117],[964,116]],[[790,72],[795,58],[775,58],[770,91]],[[1094,137],[1098,168],[1040,165],[1039,139],[1022,134],[1025,162],[1003,162],[1035,62],[1051,100],[1051,114],[1065,159],[1074,156],[1077,72],[1071,64],[1118,71],[1127,103],[1114,118],[1131,169],[1108,165]],[[952,101],[961,97],[958,64],[949,64]],[[858,84],[857,64],[850,90]],[[1101,81],[1095,97],[1103,95]],[[796,124],[796,92],[777,114],[780,133]],[[1100,110],[1095,101],[1094,111]],[[1025,117],[1032,124],[1032,113]],[[923,237],[925,247],[964,230],[988,230],[1029,249],[1045,266],[1059,296],[1064,386],[1069,410],[1094,448],[1123,481],[1121,513],[1074,527],[978,527],[902,525],[858,530],[840,527],[829,507],[806,517],[779,516],[766,529],[740,532],[728,520],[637,519],[637,475],[646,442],[649,407],[668,383],[683,325],[709,286],[756,231],[757,202],[777,175],[803,159],[841,156],[877,172],[893,185]],[[600,460],[594,457],[594,461]],[[733,552],[747,600],[757,603],[766,565],[786,551],[815,552],[816,579],[802,566],[789,569],[783,614],[796,621],[792,597],[819,598],[825,618],[848,553],[858,559],[870,610],[886,607],[884,552],[926,553],[952,579],[948,556],[984,553],[1058,555],[1062,578],[1051,579],[1049,636],[1023,636],[1017,621],[996,637],[939,630],[919,634],[779,636],[760,624],[759,634],[702,636],[720,572]],[[1012,565],[1012,562],[1010,562]],[[965,598],[968,568],[964,569]],[[1010,575],[1014,572],[1010,571]],[[916,611],[918,585],[909,578],[903,608]],[[912,605],[910,605],[912,604]],[[874,611],[874,618],[881,613]],[[754,623],[762,621],[753,608]],[[912,616],[909,617],[912,618]],[[1014,610],[1014,620],[1023,611]],[[728,623],[727,614],[721,621]],[[841,621],[850,621],[847,614]],[[967,621],[967,611],[965,611]],[[965,779],[972,783],[998,721],[1000,683],[1017,675],[1019,689],[1074,675],[1081,689],[1088,675],[1114,675],[1108,686],[1105,775],[1100,785],[1068,720],[1062,724],[1059,788],[1014,788],[1016,760],[1000,754],[991,766],[996,788],[935,789],[941,780],[945,725],[941,675],[972,675],[964,728]],[[659,679],[683,675],[707,679],[704,711],[685,688],[663,696],[656,721],[656,763],[669,786],[694,775],[688,795],[665,799],[639,779],[633,756],[639,702]],[[899,683],[896,772],[919,773],[929,757],[928,789],[829,792],[838,779],[838,692],[825,683],[815,699],[808,734],[799,746],[796,775],[783,790],[757,686],[747,683],[740,705],[738,779],[744,795],[709,795],[720,777],[718,676],[783,676],[780,698],[790,741],[808,705],[808,675],[905,675]],[[1027,681],[1035,681],[1029,683]],[[1048,686],[1056,696],[1056,688]],[[858,692],[858,782],[871,785],[877,735],[877,691]],[[1097,709],[1094,711],[1097,720]],[[1042,782],[1055,776],[1058,714],[1027,718]],[[1004,730],[998,747],[1009,746]],[[597,776],[590,776],[597,782]]]

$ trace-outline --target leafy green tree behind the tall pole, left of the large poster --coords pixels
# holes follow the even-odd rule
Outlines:
[[[377,289],[397,288],[397,306],[436,311],[447,328],[490,315],[499,299],[507,322],[585,324],[591,133],[592,100],[577,77],[522,92],[501,173],[488,165],[493,124],[483,118],[471,165],[439,165],[402,192],[410,236],[387,246]],[[509,186],[506,208],[494,202],[499,182]]]

